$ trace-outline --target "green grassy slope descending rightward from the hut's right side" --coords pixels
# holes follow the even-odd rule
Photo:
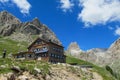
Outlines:
[[[104,80],[115,80],[112,75],[106,71],[104,68],[102,67],[98,67],[96,65],[93,65],[89,62],[86,62],[86,61],[83,61],[83,60],[80,60],[80,59],[77,59],[77,58],[74,58],[74,57],[71,57],[71,56],[67,56],[66,58],[66,62],[67,63],[77,63],[79,65],[92,65],[93,66],[93,71],[99,73]]]

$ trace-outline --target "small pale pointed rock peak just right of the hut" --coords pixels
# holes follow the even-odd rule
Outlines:
[[[68,50],[67,50],[68,54],[73,55],[73,56],[78,56],[80,55],[80,53],[82,52],[82,50],[80,49],[79,45],[77,44],[77,42],[71,42]]]

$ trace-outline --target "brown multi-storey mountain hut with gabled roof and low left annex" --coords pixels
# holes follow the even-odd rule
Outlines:
[[[15,54],[16,58],[44,60],[51,63],[65,63],[64,47],[41,38],[37,38],[29,47],[27,52]]]

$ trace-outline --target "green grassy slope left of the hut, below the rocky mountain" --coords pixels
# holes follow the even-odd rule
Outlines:
[[[4,49],[7,50],[7,54],[15,54],[18,51],[26,51],[27,46],[28,45],[26,42],[12,41],[10,39],[3,38],[0,36],[0,54],[2,54]]]

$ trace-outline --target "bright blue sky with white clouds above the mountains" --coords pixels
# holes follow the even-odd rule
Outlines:
[[[60,39],[65,49],[108,48],[120,36],[119,0],[0,0],[21,21],[38,17]]]

